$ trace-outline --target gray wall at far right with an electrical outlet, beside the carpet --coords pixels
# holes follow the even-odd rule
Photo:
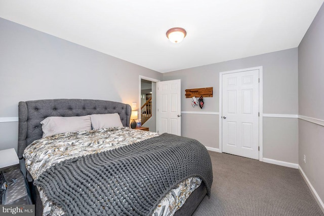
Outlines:
[[[299,115],[324,123],[324,5],[298,47]],[[306,163],[304,163],[304,155]],[[324,127],[299,120],[299,165],[324,201]]]

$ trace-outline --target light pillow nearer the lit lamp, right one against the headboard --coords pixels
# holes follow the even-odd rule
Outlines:
[[[93,114],[90,116],[92,128],[94,130],[109,128],[109,127],[123,127],[118,113],[112,114]]]

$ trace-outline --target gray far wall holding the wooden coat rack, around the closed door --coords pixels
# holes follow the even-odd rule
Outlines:
[[[219,112],[219,73],[256,66],[263,66],[263,113],[297,115],[297,48],[172,71],[163,74],[163,79],[181,79],[182,111]],[[185,89],[204,87],[213,87],[213,97],[204,98],[205,105],[202,110],[197,106],[192,107],[191,99],[185,98]],[[218,115],[183,114],[182,135],[218,149],[218,118]],[[263,148],[264,158],[298,163],[297,119],[264,117]]]

